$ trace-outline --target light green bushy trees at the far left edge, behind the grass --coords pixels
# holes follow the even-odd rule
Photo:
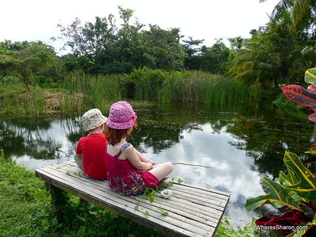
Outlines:
[[[64,69],[52,46],[38,42],[0,42],[0,83],[20,79],[50,87],[64,77]]]

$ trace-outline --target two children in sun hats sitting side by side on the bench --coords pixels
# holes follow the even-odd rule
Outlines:
[[[123,101],[111,106],[108,119],[98,109],[89,110],[82,117],[89,134],[79,139],[74,152],[75,162],[90,178],[107,179],[111,189],[123,195],[155,188],[173,170],[170,162],[156,164],[127,142],[138,126],[136,119],[131,105]]]

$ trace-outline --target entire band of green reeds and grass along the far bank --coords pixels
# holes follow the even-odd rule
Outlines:
[[[0,84],[0,116],[71,115],[91,108],[105,111],[124,98],[206,105],[250,98],[248,87],[221,75],[148,68],[118,75],[72,73],[52,84],[34,79],[29,88],[17,78]]]

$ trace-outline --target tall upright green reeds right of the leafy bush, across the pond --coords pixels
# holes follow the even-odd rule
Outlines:
[[[199,71],[170,72],[159,88],[157,101],[224,104],[250,98],[248,87],[221,75]]]

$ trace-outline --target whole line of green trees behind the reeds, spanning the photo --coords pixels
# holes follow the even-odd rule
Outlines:
[[[264,90],[303,84],[304,71],[316,64],[316,2],[304,2],[308,7],[302,14],[309,16],[304,24],[293,23],[297,15],[291,10],[297,8],[297,1],[282,2],[285,5],[276,7],[270,22],[250,31],[251,38],[228,38],[230,49],[222,38],[208,47],[201,46],[203,39],[185,39],[178,28],[145,28],[133,17],[133,10],[120,6],[120,25],[111,14],[95,17],[95,22],[82,23],[76,18],[70,25],[58,24],[61,36],[53,39],[62,39],[64,49],[70,50],[62,56],[40,41],[0,42],[0,83],[18,79],[27,88],[52,88],[76,71],[87,75],[129,74],[145,67],[228,75]]]

